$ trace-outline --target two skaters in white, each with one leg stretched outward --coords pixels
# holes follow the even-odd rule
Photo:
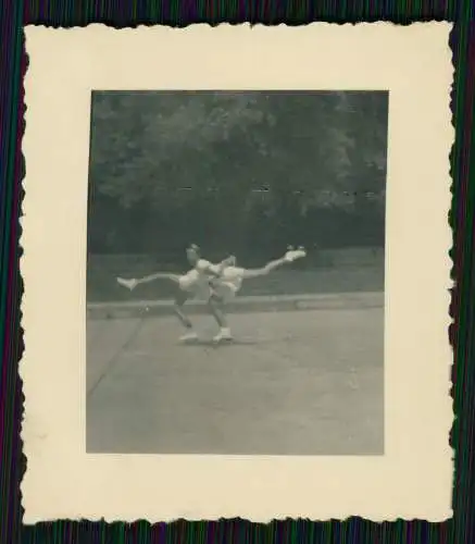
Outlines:
[[[188,262],[192,267],[186,274],[179,275],[159,272],[141,277],[140,280],[117,277],[120,285],[130,290],[139,284],[155,280],[168,280],[173,282],[176,285],[174,297],[175,313],[186,329],[186,333],[180,337],[182,342],[198,339],[190,319],[183,311],[187,300],[195,298],[205,300],[211,314],[220,326],[220,332],[213,341],[230,341],[233,337],[224,313],[224,306],[237,295],[243,280],[267,275],[277,268],[293,262],[307,255],[303,248],[296,250],[290,248],[283,258],[271,261],[265,267],[260,269],[245,269],[237,265],[234,256],[226,258],[218,264],[213,264],[201,258],[200,248],[195,244],[186,250],[186,254]]]

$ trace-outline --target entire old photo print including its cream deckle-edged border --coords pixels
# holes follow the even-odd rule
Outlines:
[[[449,32],[26,29],[25,523],[451,516]]]

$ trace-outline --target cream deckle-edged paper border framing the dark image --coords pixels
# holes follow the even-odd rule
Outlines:
[[[26,523],[451,516],[450,28],[26,28]],[[384,456],[86,454],[92,89],[389,90]]]

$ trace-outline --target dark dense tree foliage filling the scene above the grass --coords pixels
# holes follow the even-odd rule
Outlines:
[[[384,244],[386,92],[95,92],[91,252]]]

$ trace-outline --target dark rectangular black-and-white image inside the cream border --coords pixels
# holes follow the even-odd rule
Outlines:
[[[86,449],[384,455],[389,94],[91,94]]]

